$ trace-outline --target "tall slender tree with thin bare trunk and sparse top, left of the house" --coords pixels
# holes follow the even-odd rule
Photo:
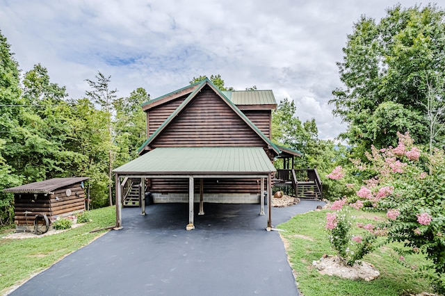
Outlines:
[[[110,88],[111,76],[104,76],[101,72],[95,76],[95,81],[86,79],[91,90],[86,91],[87,97],[90,97],[95,104],[99,104],[102,110],[106,113],[106,124],[108,129],[108,199],[110,206],[113,205],[113,127],[112,117],[114,111],[114,101],[116,98],[117,89],[112,90]]]

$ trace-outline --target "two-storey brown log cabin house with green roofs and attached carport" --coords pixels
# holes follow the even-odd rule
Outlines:
[[[192,229],[195,202],[198,215],[204,202],[260,204],[264,215],[266,192],[271,227],[274,159],[301,156],[292,149],[282,154],[271,141],[276,106],[272,90],[220,91],[208,79],[143,104],[147,140],[140,156],[113,170],[118,227],[122,206],[140,201],[145,214],[143,192],[154,203],[188,202]]]

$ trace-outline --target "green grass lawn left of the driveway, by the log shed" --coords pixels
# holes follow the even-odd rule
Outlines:
[[[0,295],[101,236],[105,231],[90,231],[115,225],[115,207],[92,210],[90,217],[92,222],[52,236],[0,238]]]

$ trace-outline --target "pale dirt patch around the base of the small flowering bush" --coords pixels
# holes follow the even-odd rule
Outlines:
[[[337,256],[323,256],[312,263],[321,274],[336,275],[345,279],[364,279],[372,281],[377,279],[380,272],[374,265],[365,261],[357,261],[353,266],[345,265]]]

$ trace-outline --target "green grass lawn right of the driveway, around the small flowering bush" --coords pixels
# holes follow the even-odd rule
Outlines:
[[[399,255],[392,247],[383,245],[364,261],[372,263],[380,272],[380,277],[373,281],[341,279],[321,275],[312,266],[312,261],[319,260],[323,254],[334,255],[324,229],[327,211],[312,211],[296,215],[289,222],[278,228],[286,245],[289,261],[296,274],[298,288],[305,296],[312,295],[410,295],[421,292],[432,293],[430,282],[422,277],[419,266],[426,259],[419,255],[405,256],[405,261],[398,260]],[[381,219],[382,214],[351,211],[357,216],[355,222],[371,222]],[[355,223],[353,223],[355,225]],[[357,229],[362,231],[362,229]],[[400,245],[398,247],[401,247]]]

